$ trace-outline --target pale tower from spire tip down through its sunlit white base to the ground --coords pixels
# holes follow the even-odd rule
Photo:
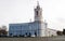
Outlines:
[[[42,20],[42,9],[40,8],[39,2],[37,2],[37,6],[35,9],[35,22],[37,23],[38,37],[44,37],[47,25]]]

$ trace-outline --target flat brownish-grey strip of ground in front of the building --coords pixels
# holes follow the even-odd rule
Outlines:
[[[0,41],[65,41],[65,37],[0,38]]]

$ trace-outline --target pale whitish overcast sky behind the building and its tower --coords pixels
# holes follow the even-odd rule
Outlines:
[[[34,22],[34,9],[39,1],[42,8],[43,22],[48,28],[65,28],[65,0],[0,0],[0,27],[9,24]]]

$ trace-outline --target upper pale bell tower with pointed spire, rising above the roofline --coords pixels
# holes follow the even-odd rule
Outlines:
[[[35,22],[42,22],[42,9],[40,8],[39,2],[37,2],[35,9]]]

